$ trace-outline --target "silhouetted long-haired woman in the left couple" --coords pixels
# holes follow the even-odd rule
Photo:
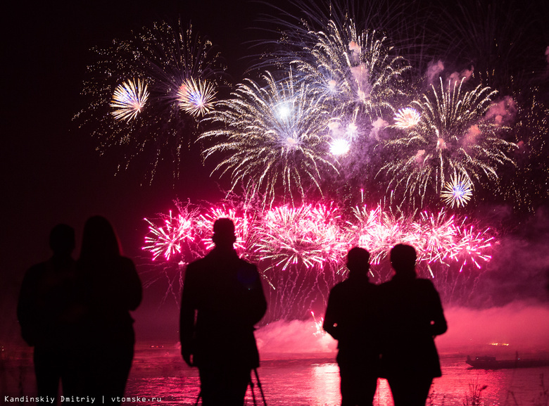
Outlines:
[[[141,303],[142,288],[134,263],[120,255],[115,231],[104,217],[90,217],[84,224],[77,290],[84,307],[82,392],[100,402],[120,404],[134,355],[130,310]]]

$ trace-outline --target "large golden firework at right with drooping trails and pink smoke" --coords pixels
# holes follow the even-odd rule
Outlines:
[[[503,126],[483,117],[496,91],[481,85],[462,91],[462,84],[444,89],[441,79],[438,88],[431,85],[432,94],[412,102],[421,114],[417,125],[387,142],[398,156],[408,156],[387,163],[378,174],[386,172],[388,190],[403,188],[403,201],[416,207],[432,197],[429,191],[440,194],[450,173],[491,180],[498,178],[498,166],[513,163],[506,153],[516,144],[500,137]]]

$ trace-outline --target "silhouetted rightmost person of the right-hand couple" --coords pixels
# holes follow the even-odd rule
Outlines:
[[[417,278],[415,260],[412,246],[394,246],[395,275],[379,286],[384,322],[381,365],[395,406],[424,406],[433,378],[442,374],[434,336],[446,332],[446,319],[431,281]]]

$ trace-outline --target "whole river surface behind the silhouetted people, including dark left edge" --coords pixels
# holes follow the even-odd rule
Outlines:
[[[32,350],[2,349],[5,351],[0,354],[0,405],[14,404],[13,401],[4,401],[6,395],[36,395]],[[339,370],[335,355],[333,351],[301,354],[262,352],[258,375],[267,405],[339,405]],[[512,356],[513,353],[507,350],[502,359]],[[543,357],[547,356],[543,354]],[[470,369],[465,359],[466,355],[461,353],[441,353],[443,376],[434,380],[427,405],[549,405],[549,367],[484,371]],[[255,377],[253,381],[256,382]],[[127,382],[125,404],[191,406],[196,403],[198,388],[198,371],[184,364],[177,345],[138,344]],[[472,398],[475,393],[480,395],[477,403]],[[257,405],[263,405],[257,383],[254,394]],[[19,405],[27,403],[35,402],[15,401]],[[253,404],[248,389],[246,405]],[[384,379],[378,381],[374,405],[393,405]]]

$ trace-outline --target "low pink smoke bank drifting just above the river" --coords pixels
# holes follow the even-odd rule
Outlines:
[[[549,306],[518,301],[489,309],[450,307],[446,334],[436,338],[440,353],[486,355],[496,351],[549,351]],[[313,320],[277,321],[255,332],[262,355],[335,353],[337,341]]]

